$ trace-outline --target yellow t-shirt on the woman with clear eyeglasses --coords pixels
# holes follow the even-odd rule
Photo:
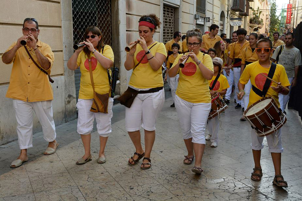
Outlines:
[[[175,59],[172,68],[178,63],[180,57]],[[199,52],[197,58],[211,71],[214,71],[212,58],[208,54]],[[179,68],[179,82],[176,90],[177,96],[191,103],[211,103],[208,80],[205,79],[192,58],[188,58],[185,67]]]

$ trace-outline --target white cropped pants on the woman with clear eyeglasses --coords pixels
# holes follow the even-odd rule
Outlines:
[[[192,138],[193,143],[205,144],[205,126],[211,103],[191,103],[176,95],[175,107],[183,139]]]

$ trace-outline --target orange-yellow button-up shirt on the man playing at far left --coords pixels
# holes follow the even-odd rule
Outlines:
[[[13,43],[7,51],[12,49],[17,43]],[[46,70],[50,74],[52,64],[54,62],[54,53],[48,44],[38,40],[38,50],[44,55],[50,62],[50,68]],[[40,65],[35,52],[32,48],[29,48],[29,53],[37,64]],[[7,52],[6,51],[6,52]],[[54,99],[52,87],[50,85],[48,76],[43,73],[28,56],[24,47],[17,50],[13,62],[12,74],[10,83],[6,93],[7,98],[18,99],[28,102],[47,101]],[[43,68],[43,66],[40,65]]]

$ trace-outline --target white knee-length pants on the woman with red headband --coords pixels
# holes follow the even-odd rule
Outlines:
[[[130,108],[126,107],[126,129],[128,132],[139,130],[155,130],[156,118],[165,102],[165,92],[137,94]]]

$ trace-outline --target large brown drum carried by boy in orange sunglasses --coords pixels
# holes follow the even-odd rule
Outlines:
[[[286,116],[272,97],[265,97],[252,104],[243,113],[258,136],[276,132],[286,122]]]

